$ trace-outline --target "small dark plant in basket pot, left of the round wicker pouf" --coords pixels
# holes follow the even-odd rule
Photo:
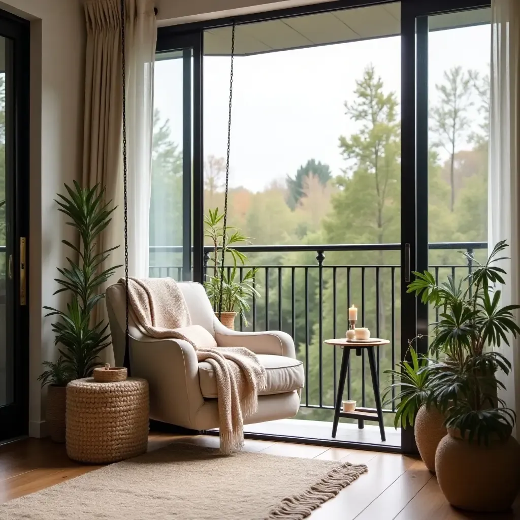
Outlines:
[[[67,384],[72,379],[72,370],[62,356],[56,362],[44,361],[43,366],[47,370],[42,372],[38,381],[42,382],[42,388],[48,387],[45,409],[47,433],[55,443],[64,443]]]

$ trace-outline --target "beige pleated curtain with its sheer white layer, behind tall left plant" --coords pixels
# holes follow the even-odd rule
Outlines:
[[[125,68],[129,275],[148,276],[148,228],[153,131],[153,63],[157,25],[153,0],[125,0]],[[120,0],[86,0],[83,185],[100,184],[118,206],[98,251],[115,245],[107,264],[124,264],[122,59]],[[123,270],[111,279],[114,283]],[[103,288],[104,290],[105,288]],[[107,320],[106,307],[93,319]],[[105,353],[113,363],[113,353]]]

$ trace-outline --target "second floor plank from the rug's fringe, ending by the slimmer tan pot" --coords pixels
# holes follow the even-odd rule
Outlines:
[[[346,459],[348,460],[348,459]],[[393,520],[415,495],[433,478],[422,460],[415,461],[395,482],[388,486],[356,520]]]

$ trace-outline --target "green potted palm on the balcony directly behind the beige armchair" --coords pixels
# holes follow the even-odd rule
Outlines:
[[[222,258],[222,243],[224,238],[224,228],[222,221],[224,215],[215,210],[209,210],[204,216],[205,236],[211,240],[212,253],[209,256],[209,264],[212,267],[213,274],[206,276],[204,288],[207,296],[218,311],[220,308],[220,316],[218,312],[215,315],[229,329],[235,329],[235,318],[237,313],[242,317],[247,325],[246,313],[250,309],[249,301],[255,297],[260,297],[255,288],[255,275],[257,268],[248,269],[245,274],[240,277],[239,265],[245,265],[248,261],[247,256],[233,248],[233,245],[248,243],[249,237],[242,235],[239,229],[233,226],[226,226],[226,229],[232,230],[230,234],[226,231],[225,253],[232,258],[233,265],[229,269],[220,269],[220,258]],[[222,278],[221,278],[222,275]],[[220,303],[220,289],[222,287],[222,304]]]

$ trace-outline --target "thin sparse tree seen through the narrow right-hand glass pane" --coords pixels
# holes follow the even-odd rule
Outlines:
[[[449,179],[451,187],[450,211],[455,208],[455,152],[459,140],[467,133],[469,120],[467,110],[473,105],[472,80],[462,67],[453,67],[444,72],[444,83],[436,84],[439,94],[437,105],[431,110],[431,131],[436,135],[435,147],[444,148],[450,157]]]

